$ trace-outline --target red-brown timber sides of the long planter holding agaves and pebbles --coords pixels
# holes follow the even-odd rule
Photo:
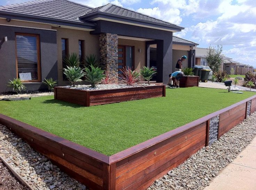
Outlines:
[[[54,87],[54,99],[87,107],[155,97],[165,97],[165,85],[109,90],[78,90]]]

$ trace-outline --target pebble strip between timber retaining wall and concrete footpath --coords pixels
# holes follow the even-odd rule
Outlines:
[[[147,190],[198,189],[207,187],[227,164],[256,136],[256,112],[207,147],[193,154],[177,168],[155,180]]]

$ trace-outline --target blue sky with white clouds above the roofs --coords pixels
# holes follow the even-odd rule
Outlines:
[[[28,0],[0,0],[0,5]],[[256,0],[73,0],[90,7],[107,3],[184,27],[174,33],[207,48],[222,45],[223,54],[256,67]]]

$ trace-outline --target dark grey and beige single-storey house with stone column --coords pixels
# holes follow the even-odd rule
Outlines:
[[[13,78],[21,78],[28,90],[44,88],[45,78],[69,84],[63,79],[62,62],[73,52],[82,59],[95,54],[117,80],[124,66],[149,66],[152,45],[157,54],[155,80],[167,83],[178,57],[187,53],[194,60],[197,44],[173,37],[182,29],[110,3],[91,8],[69,0],[35,0],[0,6],[0,92]]]

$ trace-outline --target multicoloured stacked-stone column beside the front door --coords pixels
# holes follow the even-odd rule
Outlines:
[[[104,69],[118,82],[118,36],[104,33],[99,35],[100,61]]]

